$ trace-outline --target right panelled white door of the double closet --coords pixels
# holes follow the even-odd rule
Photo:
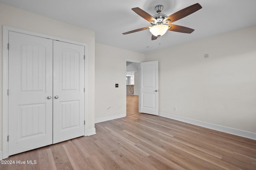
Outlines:
[[[53,143],[84,135],[84,46],[53,42]]]

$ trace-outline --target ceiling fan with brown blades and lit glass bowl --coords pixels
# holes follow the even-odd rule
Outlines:
[[[192,33],[194,31],[194,29],[191,29],[188,27],[183,27],[180,25],[173,25],[170,23],[180,20],[180,19],[200,10],[201,8],[202,8],[202,6],[197,3],[194,5],[188,6],[187,8],[184,8],[170,16],[167,16],[166,14],[160,14],[163,9],[162,5],[157,5],[155,7],[155,10],[158,14],[156,14],[154,16],[151,16],[150,14],[148,14],[147,12],[145,12],[144,10],[142,10],[138,7],[132,8],[132,10],[134,12],[136,12],[136,14],[138,14],[145,20],[149,21],[151,23],[152,27],[144,27],[144,28],[140,28],[140,29],[135,29],[132,31],[125,32],[123,34],[125,35],[125,34],[129,34],[129,33],[134,33],[134,32],[149,29],[149,31],[152,33],[151,39],[155,40],[158,37],[164,35],[167,30],[176,31],[176,32],[180,32],[180,33]]]

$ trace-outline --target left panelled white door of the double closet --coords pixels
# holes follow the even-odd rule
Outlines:
[[[52,40],[9,31],[9,155],[52,144]]]

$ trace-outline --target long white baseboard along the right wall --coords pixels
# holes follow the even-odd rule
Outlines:
[[[169,118],[169,119],[178,120],[178,121],[182,121],[182,122],[186,122],[186,123],[190,123],[190,124],[193,124],[193,125],[198,125],[198,126],[201,126],[201,127],[206,127],[208,129],[213,129],[213,130],[216,130],[216,131],[230,133],[232,135],[237,135],[237,136],[246,137],[246,138],[249,138],[249,139],[256,140],[256,133],[243,131],[243,130],[240,130],[240,129],[234,129],[234,128],[231,128],[231,127],[216,125],[216,124],[213,124],[213,123],[207,123],[207,122],[198,121],[198,120],[194,120],[194,119],[188,119],[186,117],[180,117],[180,116],[170,115],[170,114],[161,113],[161,112],[159,112],[159,116],[166,117],[166,118]]]

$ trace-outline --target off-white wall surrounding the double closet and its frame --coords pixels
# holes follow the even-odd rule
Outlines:
[[[0,150],[2,150],[2,25],[36,33],[70,39],[88,45],[88,112],[87,128],[94,129],[94,31],[0,4]]]

